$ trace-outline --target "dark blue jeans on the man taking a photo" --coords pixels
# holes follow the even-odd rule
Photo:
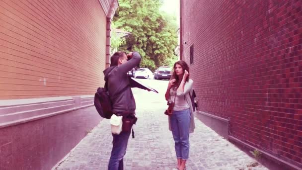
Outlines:
[[[112,134],[112,151],[108,170],[124,170],[123,158],[126,154],[128,139],[131,132],[121,132],[119,135]]]

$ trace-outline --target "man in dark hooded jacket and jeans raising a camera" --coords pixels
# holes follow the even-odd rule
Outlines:
[[[118,51],[110,58],[111,65],[104,70],[105,81],[108,83],[108,92],[112,101],[113,113],[117,116],[123,116],[123,130],[119,135],[112,134],[113,147],[109,160],[108,170],[123,170],[123,158],[126,154],[128,139],[131,133],[131,127],[136,122],[135,115],[135,99],[131,87],[142,86],[134,84],[127,76],[127,73],[141,62],[141,55],[138,52]],[[129,126],[125,130],[124,119],[131,120]],[[125,123],[126,125],[126,123]]]

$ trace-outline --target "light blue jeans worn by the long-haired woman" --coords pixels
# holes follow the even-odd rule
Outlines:
[[[171,116],[171,130],[175,141],[177,159],[189,158],[189,132],[191,122],[191,110],[173,111]]]

